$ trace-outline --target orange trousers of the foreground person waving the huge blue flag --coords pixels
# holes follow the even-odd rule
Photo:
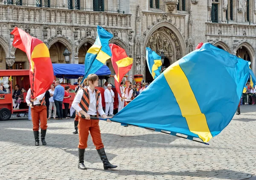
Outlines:
[[[94,146],[96,149],[102,149],[104,147],[100,135],[99,129],[99,120],[88,120],[79,117],[78,123],[78,131],[79,131],[79,145],[78,148],[85,149],[87,148],[88,135],[90,131],[90,135],[93,140]]]

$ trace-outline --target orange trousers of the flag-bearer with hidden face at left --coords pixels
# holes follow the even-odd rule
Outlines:
[[[31,118],[33,123],[33,131],[39,130],[39,121],[40,127],[43,130],[47,129],[47,108],[46,106],[34,106],[31,108]]]

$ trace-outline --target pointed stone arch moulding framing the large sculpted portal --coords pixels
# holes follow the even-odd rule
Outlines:
[[[162,29],[161,29],[162,28]],[[183,57],[186,55],[186,43],[182,37],[182,35],[180,34],[180,31],[171,23],[168,22],[162,22],[162,23],[158,23],[157,25],[154,25],[147,33],[146,37],[145,37],[145,43],[143,45],[143,54],[145,54],[145,48],[148,44],[148,41],[150,39],[150,37],[157,31],[161,31],[161,30],[165,30],[166,34],[169,34],[169,37],[171,37],[171,34],[173,34],[177,39],[178,42],[178,46],[176,47],[176,50],[178,49],[178,51],[180,51],[180,56]],[[180,57],[180,58],[181,58]]]

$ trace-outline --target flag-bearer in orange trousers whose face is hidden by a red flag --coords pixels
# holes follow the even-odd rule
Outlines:
[[[28,90],[26,95],[26,103],[31,108],[31,116],[32,116],[32,123],[33,123],[33,132],[35,137],[35,146],[39,146],[39,120],[40,120],[40,127],[41,127],[41,141],[43,145],[46,145],[45,135],[47,130],[47,107],[45,104],[44,94],[41,94],[31,99],[31,89]],[[33,102],[33,106],[32,106]]]

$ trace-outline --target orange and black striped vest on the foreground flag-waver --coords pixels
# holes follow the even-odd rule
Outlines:
[[[83,97],[81,98],[80,103],[78,104],[79,107],[81,107],[82,110],[85,111],[85,113],[88,112],[89,109],[89,105],[90,105],[90,95],[89,95],[89,90],[87,88],[83,88],[82,89],[84,91]],[[99,107],[99,97],[100,95],[100,91],[95,89],[95,93],[96,93],[96,110],[97,110],[97,117],[99,116],[98,114],[98,107]],[[81,117],[81,113],[77,112],[78,115]]]

